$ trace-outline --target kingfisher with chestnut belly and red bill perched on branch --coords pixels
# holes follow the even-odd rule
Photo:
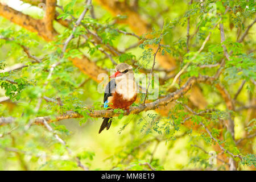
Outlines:
[[[104,108],[125,109],[130,113],[129,107],[137,98],[137,84],[134,80],[133,67],[126,63],[120,63],[115,67],[113,78],[110,80],[104,92]],[[112,118],[103,118],[100,130],[109,129]]]

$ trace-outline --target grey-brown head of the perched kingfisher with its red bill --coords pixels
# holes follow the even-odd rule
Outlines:
[[[120,63],[115,67],[115,73],[110,78],[133,78],[133,67],[126,63]]]

